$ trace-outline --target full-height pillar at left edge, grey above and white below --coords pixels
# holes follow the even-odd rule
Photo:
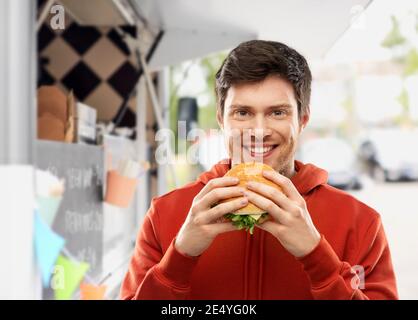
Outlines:
[[[33,251],[36,1],[0,1],[0,299],[40,297]]]

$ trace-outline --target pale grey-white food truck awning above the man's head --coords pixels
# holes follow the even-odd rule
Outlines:
[[[371,0],[135,0],[164,37],[150,66],[225,50],[249,39],[284,42],[320,58]]]

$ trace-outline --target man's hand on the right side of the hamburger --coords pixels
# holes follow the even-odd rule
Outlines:
[[[248,200],[273,218],[257,227],[275,236],[295,257],[309,254],[321,236],[311,220],[305,200],[285,176],[275,171],[263,171],[263,176],[280,186],[284,194],[263,183],[247,183],[249,191],[245,194]]]

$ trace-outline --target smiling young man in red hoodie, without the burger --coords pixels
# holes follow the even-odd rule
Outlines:
[[[216,75],[230,159],[153,199],[122,299],[397,299],[378,213],[327,185],[324,170],[294,159],[311,80],[306,60],[282,43],[232,50]],[[257,183],[243,190],[224,177],[240,161],[230,143],[237,130],[251,132],[240,151],[273,167],[264,176],[283,194]],[[231,197],[238,198],[216,205]],[[222,219],[248,201],[272,218],[253,235]]]

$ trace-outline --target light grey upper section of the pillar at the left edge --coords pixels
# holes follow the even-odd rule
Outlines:
[[[34,161],[34,26],[33,1],[0,1],[0,164]]]

